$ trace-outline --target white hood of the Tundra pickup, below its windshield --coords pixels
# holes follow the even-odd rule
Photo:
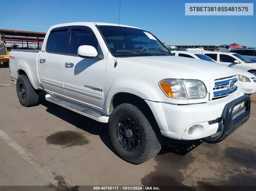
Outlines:
[[[170,72],[176,72],[184,79],[198,79],[201,76],[214,76],[225,73],[236,75],[232,68],[214,62],[180,56],[141,56],[118,58],[118,60],[143,64],[145,67],[160,67]]]

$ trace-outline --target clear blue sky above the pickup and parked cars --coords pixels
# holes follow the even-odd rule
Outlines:
[[[185,3],[242,3],[244,0],[121,0],[120,24],[144,28],[166,45],[256,47],[254,16],[185,16]],[[255,0],[247,0],[246,3]],[[0,28],[46,32],[54,24],[93,21],[118,23],[119,0],[24,0],[1,9]]]

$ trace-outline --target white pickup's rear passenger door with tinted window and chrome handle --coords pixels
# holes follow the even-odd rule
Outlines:
[[[39,75],[46,92],[65,98],[63,60],[68,41],[68,27],[51,30],[45,49],[39,55]]]

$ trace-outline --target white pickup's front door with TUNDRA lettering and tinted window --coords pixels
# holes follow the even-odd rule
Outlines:
[[[68,54],[65,56],[64,89],[68,100],[102,110],[105,97],[105,70],[107,57],[103,59],[78,57],[78,47],[95,47],[98,55],[103,53],[90,27],[72,26]]]

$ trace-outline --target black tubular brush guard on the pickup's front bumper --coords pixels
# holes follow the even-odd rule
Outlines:
[[[245,113],[241,114],[240,116],[232,120],[232,116],[234,116],[234,113],[238,113],[238,112],[232,113],[234,110],[234,107],[236,107],[238,104],[243,102],[244,102],[244,107],[239,108],[238,112],[242,111],[245,108]],[[217,131],[217,132],[220,132],[220,134],[216,137],[211,137],[211,136],[205,137],[205,138],[202,138],[202,140],[204,142],[211,143],[211,144],[219,143],[223,141],[225,138],[227,138],[236,129],[241,127],[249,119],[250,111],[251,111],[251,98],[249,95],[243,95],[227,103],[222,112],[222,117],[223,117],[222,126]]]

